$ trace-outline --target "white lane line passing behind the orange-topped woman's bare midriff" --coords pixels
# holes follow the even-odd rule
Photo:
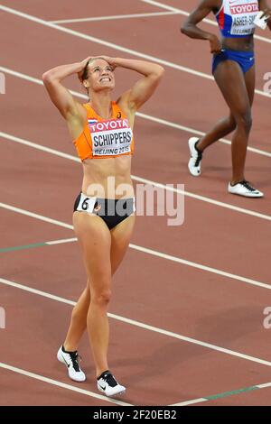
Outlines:
[[[6,140],[9,140],[9,141],[15,142],[15,143],[21,143],[21,140],[22,140],[23,145],[26,145],[28,147],[32,147],[34,149],[36,148],[36,146],[38,146],[37,149],[40,150],[40,151],[44,151],[44,152],[49,151],[49,149],[47,147],[45,147],[43,149],[43,146],[41,144],[32,143],[32,142],[29,142],[27,140],[20,139],[19,137],[14,137],[11,134],[5,134],[5,133],[0,132],[0,137],[4,138]],[[62,153],[62,152],[59,152],[59,151],[56,151],[56,152],[57,152],[57,156],[63,157],[65,159],[71,158],[72,161],[79,162],[78,158],[70,156],[69,154]],[[50,149],[49,153],[54,154],[54,150]],[[132,180],[140,182],[142,184],[150,184],[150,185],[152,185],[156,188],[159,188],[159,189],[164,189],[166,191],[172,191],[173,193],[181,194],[182,196],[186,196],[188,198],[194,198],[196,200],[201,200],[203,202],[210,203],[210,205],[215,205],[215,206],[218,206],[218,207],[224,207],[226,209],[234,210],[234,211],[239,212],[241,214],[249,215],[251,217],[258,217],[258,218],[261,218],[261,219],[265,219],[267,221],[271,221],[271,216],[261,214],[259,212],[255,212],[255,211],[250,210],[250,209],[245,209],[244,207],[236,207],[236,206],[231,205],[229,203],[220,202],[219,200],[215,200],[213,198],[206,198],[204,196],[194,194],[190,191],[186,191],[186,190],[183,191],[181,189],[175,189],[174,187],[167,186],[165,184],[162,184],[162,183],[159,183],[159,182],[156,182],[156,181],[146,180],[145,178],[137,177],[136,175],[132,175],[131,178],[132,178]]]

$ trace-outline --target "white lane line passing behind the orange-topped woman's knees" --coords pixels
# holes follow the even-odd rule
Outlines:
[[[42,291],[42,290],[32,289],[28,286],[24,286],[23,284],[18,284],[14,281],[9,281],[9,280],[5,280],[3,278],[0,278],[0,283],[5,284],[6,286],[14,287],[15,289],[20,289],[20,290],[25,290],[27,292],[32,292],[33,294],[45,297],[47,299],[60,301],[61,303],[67,303],[69,305],[75,305],[76,304],[76,302],[73,302],[71,300],[67,300],[67,299],[64,299],[64,298],[61,298],[61,297],[58,297],[58,296],[51,295],[50,293]],[[205,343],[205,342],[202,342],[201,340],[197,340],[197,339],[192,338],[192,337],[182,336],[180,334],[173,333],[172,331],[164,330],[163,328],[160,328],[160,327],[149,326],[149,325],[147,325],[143,322],[135,321],[135,319],[121,317],[119,315],[112,314],[112,313],[108,313],[107,316],[109,318],[116,319],[117,321],[129,324],[129,325],[134,326],[134,327],[143,328],[145,330],[149,330],[151,332],[161,334],[163,336],[169,336],[169,337],[176,338],[178,340],[182,340],[184,342],[192,343],[192,345],[206,347],[210,350],[214,350],[216,352],[220,352],[220,353],[225,354],[225,355],[236,356],[240,359],[245,359],[247,361],[250,361],[250,362],[253,362],[253,363],[256,363],[256,364],[271,366],[271,362],[266,361],[265,359],[257,358],[255,356],[251,356],[251,355],[242,354],[241,352],[236,352],[236,351],[231,350],[231,349],[226,349],[225,347],[212,345],[210,343]]]

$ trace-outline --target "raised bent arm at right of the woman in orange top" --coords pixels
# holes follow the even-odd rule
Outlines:
[[[163,77],[164,68],[145,60],[109,58],[107,56],[102,56],[102,58],[107,60],[107,63],[113,69],[117,67],[131,69],[144,75],[143,78],[135,82],[133,88],[127,90],[117,100],[117,104],[120,107],[128,109],[130,113],[135,113],[153,95],[155,88],[157,88]]]

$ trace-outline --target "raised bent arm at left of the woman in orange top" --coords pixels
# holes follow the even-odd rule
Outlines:
[[[90,58],[70,65],[62,65],[50,69],[42,75],[42,80],[47,89],[52,103],[59,109],[61,115],[67,120],[71,115],[78,115],[80,104],[65,88],[61,81],[73,74],[79,74]]]

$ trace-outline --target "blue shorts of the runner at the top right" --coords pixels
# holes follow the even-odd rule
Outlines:
[[[211,70],[212,74],[217,69],[218,64],[223,60],[233,60],[237,62],[244,74],[248,72],[248,70],[255,64],[253,51],[234,51],[223,49],[221,53],[213,55]]]

